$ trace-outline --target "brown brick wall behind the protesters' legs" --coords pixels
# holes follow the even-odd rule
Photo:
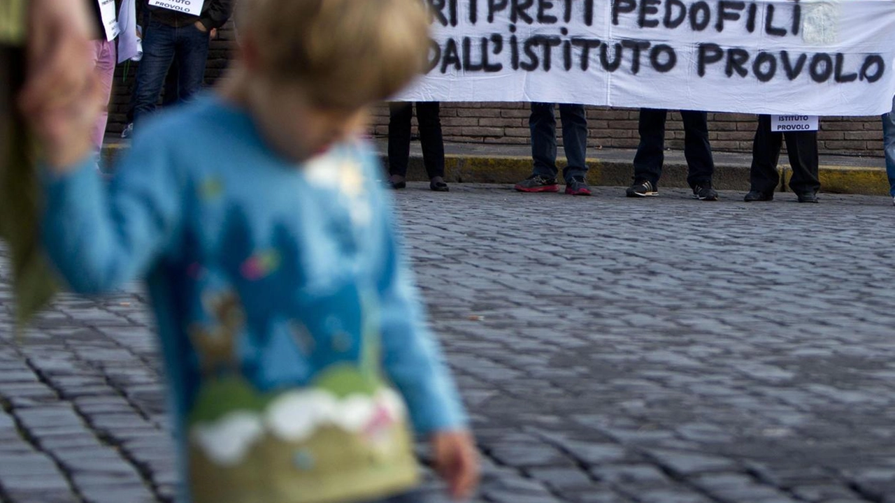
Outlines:
[[[207,84],[211,85],[223,73],[234,46],[234,30],[228,23],[211,42]],[[120,65],[116,72],[108,127],[108,132],[115,136],[125,124],[135,72],[136,64]],[[524,144],[529,137],[528,114],[528,105],[524,103],[445,103],[441,107],[441,124],[445,141]],[[587,118],[589,148],[637,146],[637,110],[588,107]],[[667,146],[683,149],[684,131],[678,113],[669,115],[667,127]],[[709,114],[709,139],[717,151],[749,151],[754,128],[754,115]],[[385,136],[387,131],[388,107],[374,107],[371,133]],[[821,153],[882,156],[882,125],[877,117],[823,117],[819,139]]]

